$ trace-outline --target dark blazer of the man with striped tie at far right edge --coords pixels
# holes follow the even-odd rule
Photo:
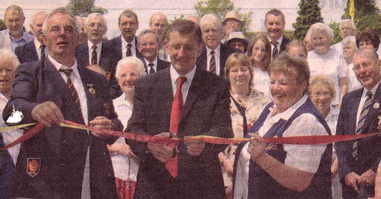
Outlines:
[[[341,103],[339,119],[337,122],[336,134],[337,135],[347,135],[355,134],[356,132],[356,117],[357,111],[360,104],[360,99],[363,89],[353,91],[346,94]],[[379,131],[377,130],[377,125],[379,125],[380,119],[377,117],[381,116],[381,110],[379,107],[373,106],[374,103],[380,103],[381,101],[381,91],[380,87],[377,88],[372,104],[370,105],[369,112],[364,124],[363,133],[371,133]],[[376,108],[375,108],[376,107]],[[343,183],[343,188],[353,189],[345,185],[344,177],[352,172],[358,175],[363,174],[369,168],[373,170],[374,173],[377,172],[377,166],[379,163],[379,156],[381,155],[381,136],[371,136],[358,140],[358,161],[354,160],[352,156],[354,141],[345,141],[335,143],[337,157],[339,161],[339,178],[341,183]],[[374,186],[371,188],[374,191]],[[350,191],[344,191],[343,194]],[[353,191],[354,192],[354,191]],[[355,192],[354,192],[355,193]]]

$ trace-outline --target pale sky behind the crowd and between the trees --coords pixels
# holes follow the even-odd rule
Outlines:
[[[252,11],[252,22],[250,24],[251,31],[264,31],[264,15],[272,9],[280,9],[286,19],[285,29],[292,30],[292,23],[296,20],[297,11],[299,9],[296,0],[231,0],[235,8],[242,8],[242,12]],[[4,18],[5,9],[12,4],[20,6],[25,14],[25,27],[29,29],[30,18],[34,12],[43,10],[46,12],[54,8],[66,6],[68,0],[0,0],[0,17]],[[117,27],[117,19],[119,14],[124,9],[134,10],[139,18],[139,33],[141,30],[148,28],[149,18],[153,13],[162,12],[167,15],[168,19],[180,17],[181,14],[194,15],[196,10],[194,5],[197,0],[140,0],[140,1],[126,1],[126,0],[96,0],[95,5],[104,7],[108,10],[105,15],[107,19],[108,32],[107,37],[112,38],[119,35]],[[326,23],[332,21],[340,21],[343,14],[343,8],[347,0],[322,0],[322,16]],[[378,6],[381,1],[377,1]],[[274,6],[276,5],[276,6]]]

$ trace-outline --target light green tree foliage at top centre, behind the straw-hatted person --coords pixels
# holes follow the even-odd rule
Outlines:
[[[251,23],[252,11],[241,13],[241,8],[234,8],[234,3],[230,0],[199,0],[196,5],[196,15],[202,17],[205,14],[212,13],[219,17],[221,20],[224,19],[225,14],[231,10],[238,11],[239,17],[245,21],[245,25],[242,27],[242,32],[249,30],[249,25]]]

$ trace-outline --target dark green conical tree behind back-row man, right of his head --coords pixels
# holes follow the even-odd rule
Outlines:
[[[301,0],[299,2],[299,16],[293,23],[296,39],[302,40],[312,24],[323,22],[319,2],[319,0]]]

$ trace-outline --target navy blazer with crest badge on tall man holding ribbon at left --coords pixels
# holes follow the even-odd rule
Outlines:
[[[81,63],[78,70],[86,93],[88,121],[105,116],[105,101],[111,100],[107,80],[100,74],[85,69]],[[92,84],[92,86],[89,86]],[[89,92],[92,87],[95,94]],[[17,67],[11,100],[3,111],[7,120],[14,105],[23,112],[22,123],[36,122],[31,118],[33,108],[52,101],[66,120],[83,124],[81,113],[76,110],[59,72],[49,59],[25,63]],[[110,119],[116,129],[122,129],[112,108]],[[116,138],[107,140],[112,144]],[[16,165],[14,196],[33,198],[80,198],[87,146],[90,146],[91,198],[117,198],[115,179],[106,141],[91,136],[85,130],[53,125],[21,144]],[[39,173],[27,174],[28,158],[40,158]]]

